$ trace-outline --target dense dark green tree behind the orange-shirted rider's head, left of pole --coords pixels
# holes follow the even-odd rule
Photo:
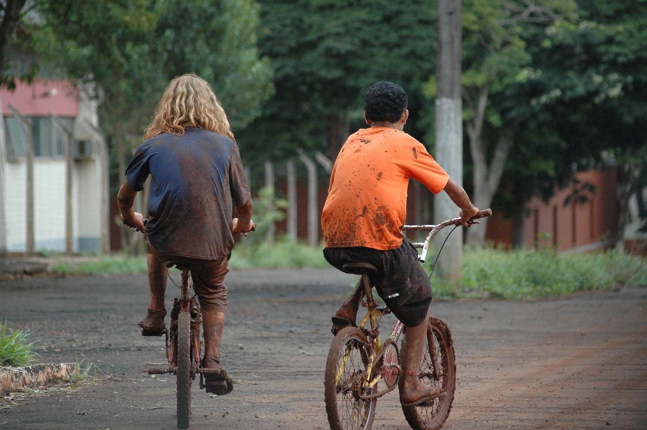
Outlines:
[[[276,93],[241,144],[257,162],[290,158],[298,147],[334,158],[351,125],[365,124],[364,94],[377,81],[399,83],[412,108],[420,103],[419,83],[435,67],[433,0],[259,3],[259,47],[272,59]]]

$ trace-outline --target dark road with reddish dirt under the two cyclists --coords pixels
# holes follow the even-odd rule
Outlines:
[[[194,383],[191,428],[327,429],[329,317],[355,278],[334,269],[230,273],[221,353],[237,383],[222,397]],[[31,330],[40,361],[85,360],[105,378],[17,407],[5,401],[0,429],[175,428],[175,377],[146,374],[164,362],[163,341],[139,335],[146,306],[144,276],[0,282],[0,321]],[[432,303],[432,312],[452,328],[457,355],[444,428],[647,429],[647,288]],[[374,429],[408,428],[395,392],[377,404]]]

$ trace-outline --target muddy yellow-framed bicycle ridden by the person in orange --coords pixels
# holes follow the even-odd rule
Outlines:
[[[476,219],[490,215],[491,210],[483,210],[470,219],[470,224],[478,224]],[[402,230],[429,231],[423,242],[414,243],[421,248],[419,261],[424,262],[430,241],[440,230],[451,225],[461,225],[460,218],[436,225],[404,226]],[[368,430],[373,425],[377,399],[396,387],[402,390],[398,341],[405,333],[402,348],[406,348],[406,328],[397,321],[389,338],[382,343],[379,321],[390,310],[387,307],[378,308],[373,299],[371,275],[377,268],[369,263],[349,263],[342,270],[362,275],[358,287],[364,286],[361,304],[367,308],[367,312],[358,327],[342,328],[333,339],[324,375],[326,413],[333,430]],[[369,322],[370,328],[367,328]],[[452,332],[439,317],[429,317],[426,347],[419,372],[421,382],[433,387],[435,394],[431,400],[420,405],[402,405],[402,412],[415,430],[440,429],[454,401],[456,364]],[[385,385],[381,390],[378,389],[380,380]]]

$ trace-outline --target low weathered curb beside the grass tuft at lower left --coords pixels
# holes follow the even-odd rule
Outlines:
[[[40,363],[24,367],[0,367],[0,396],[21,387],[39,387],[69,378],[75,363]]]

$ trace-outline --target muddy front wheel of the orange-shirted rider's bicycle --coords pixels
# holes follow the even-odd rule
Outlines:
[[[402,350],[406,348],[406,332]],[[439,369],[434,373],[432,355]],[[429,317],[426,345],[422,353],[420,380],[425,385],[441,389],[443,396],[418,406],[402,406],[407,422],[414,430],[438,430],[447,420],[456,389],[456,361],[452,332],[438,317]],[[402,379],[400,379],[400,390]]]

